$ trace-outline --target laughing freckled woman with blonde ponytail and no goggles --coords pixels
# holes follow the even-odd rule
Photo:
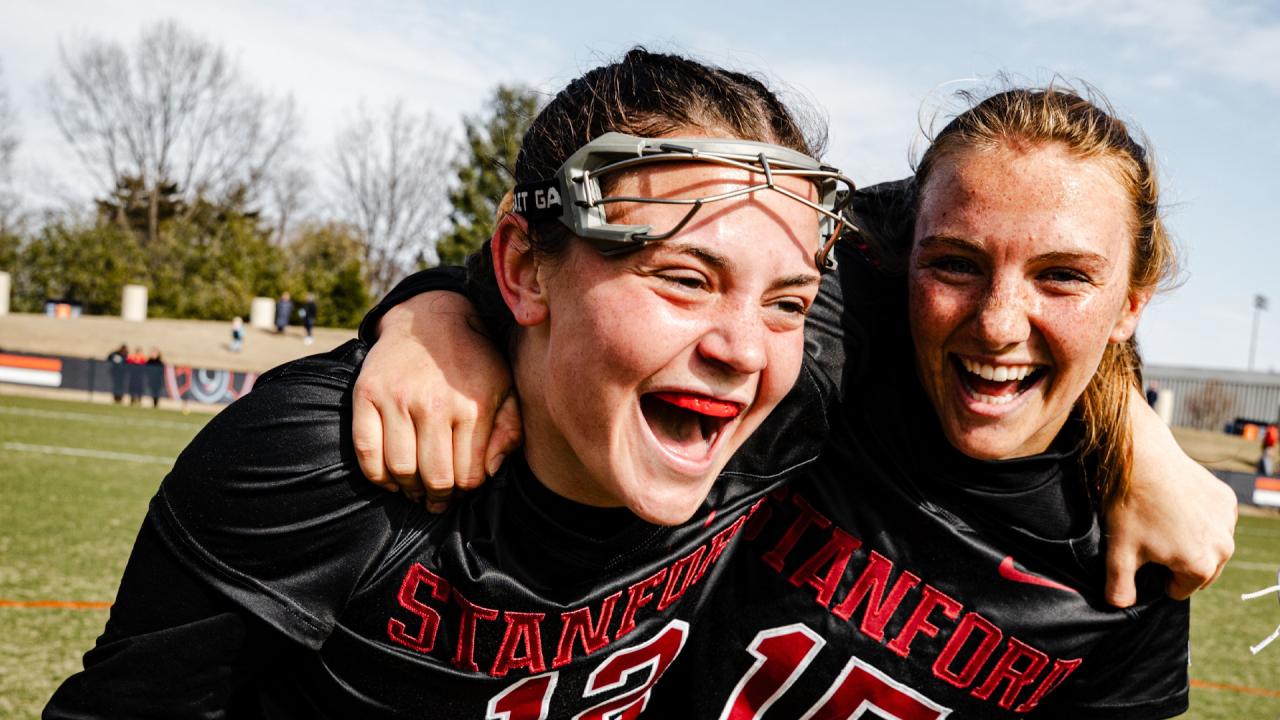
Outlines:
[[[1188,603],[1157,568],[1124,611],[1105,593],[1101,511],[1152,502],[1167,443],[1132,342],[1174,272],[1146,149],[1097,101],[1009,90],[854,215],[827,445],[753,514],[654,716],[1185,711]]]

